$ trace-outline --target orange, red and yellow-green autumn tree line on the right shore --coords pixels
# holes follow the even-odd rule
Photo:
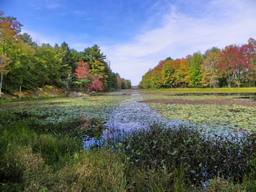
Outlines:
[[[212,47],[182,59],[168,57],[142,76],[141,88],[254,87],[256,83],[256,41]]]

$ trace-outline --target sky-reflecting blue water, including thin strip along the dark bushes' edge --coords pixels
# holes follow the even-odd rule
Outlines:
[[[197,126],[193,121],[188,120],[168,120],[164,117],[161,117],[160,114],[157,114],[156,111],[152,110],[146,103],[138,102],[142,100],[142,96],[138,92],[133,92],[131,94],[133,97],[131,99],[126,99],[123,102],[120,102],[114,111],[111,113],[109,120],[105,123],[105,126],[108,128],[102,134],[102,140],[89,139],[84,141],[85,150],[89,149],[90,146],[101,145],[105,139],[111,139],[116,136],[121,136],[123,133],[129,133],[136,129],[146,129],[152,123],[161,123],[165,124],[172,129],[175,129],[175,126],[192,124]],[[212,138],[218,139],[218,136],[237,136],[240,138],[242,133],[230,133],[229,131],[221,131],[216,137],[212,129],[209,129],[207,125],[200,126],[202,135],[208,135]],[[215,130],[216,133],[216,130]]]

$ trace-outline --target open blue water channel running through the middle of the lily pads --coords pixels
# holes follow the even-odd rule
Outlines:
[[[121,92],[123,93],[123,92]],[[105,139],[123,133],[130,133],[133,130],[145,129],[152,123],[168,123],[169,125],[181,124],[181,120],[167,120],[157,114],[147,104],[139,102],[143,98],[138,91],[127,92],[132,96],[130,99],[125,99],[117,105],[111,112],[108,121],[105,123],[106,130],[102,133],[102,139],[85,139],[84,148],[90,148],[101,144]],[[111,95],[113,96],[113,95]],[[114,96],[118,96],[115,94]]]

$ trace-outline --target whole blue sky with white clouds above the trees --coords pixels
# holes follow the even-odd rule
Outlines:
[[[0,11],[38,44],[98,44],[133,85],[169,56],[256,38],[256,0],[0,0]]]

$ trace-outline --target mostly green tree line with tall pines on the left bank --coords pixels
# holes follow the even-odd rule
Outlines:
[[[131,88],[130,80],[111,71],[98,45],[77,51],[66,42],[37,44],[15,17],[0,11],[0,96],[2,91],[33,90],[54,85],[64,90]]]

